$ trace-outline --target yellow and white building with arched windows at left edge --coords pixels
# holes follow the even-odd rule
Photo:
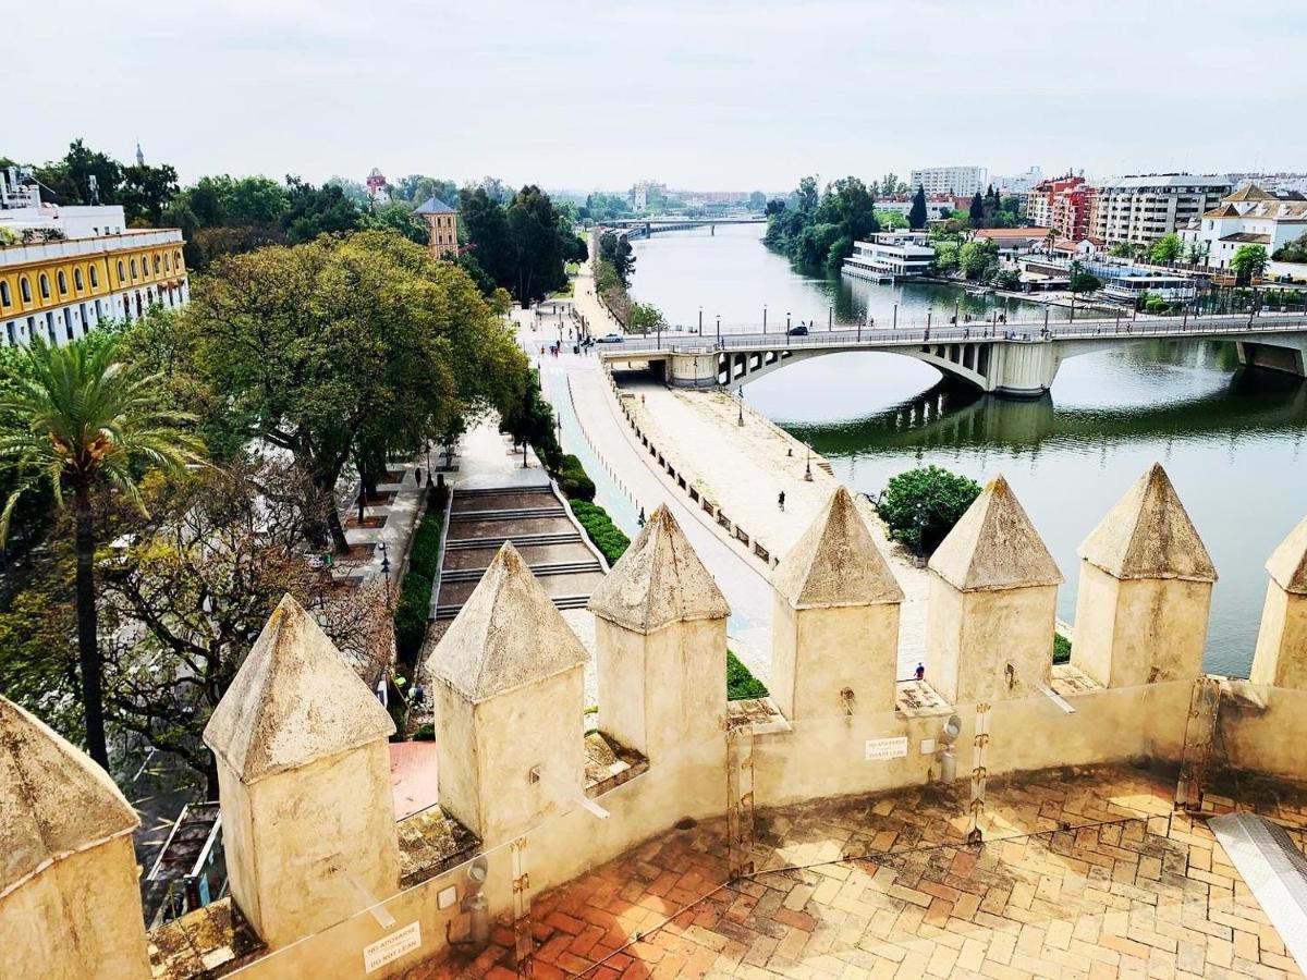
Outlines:
[[[124,225],[120,206],[46,204],[0,174],[0,345],[67,344],[102,320],[188,302],[182,233]]]

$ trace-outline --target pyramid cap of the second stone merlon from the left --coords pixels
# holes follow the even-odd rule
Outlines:
[[[209,719],[204,742],[252,783],[393,733],[386,708],[286,595]]]

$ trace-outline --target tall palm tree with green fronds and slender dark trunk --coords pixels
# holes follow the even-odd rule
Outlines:
[[[161,408],[157,378],[119,358],[116,338],[81,338],[60,348],[34,337],[24,368],[24,376],[0,392],[0,414],[12,419],[9,431],[0,435],[0,468],[16,477],[16,489],[0,512],[0,544],[9,534],[9,520],[24,491],[47,482],[59,507],[72,494],[86,749],[107,770],[91,493],[108,486],[144,510],[136,482],[140,469],[176,472],[199,459],[201,444],[178,427],[188,416]]]

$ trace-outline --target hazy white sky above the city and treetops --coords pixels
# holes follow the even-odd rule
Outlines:
[[[1303,0],[48,0],[5,33],[0,154],[140,139],[183,180],[1307,170]]]

